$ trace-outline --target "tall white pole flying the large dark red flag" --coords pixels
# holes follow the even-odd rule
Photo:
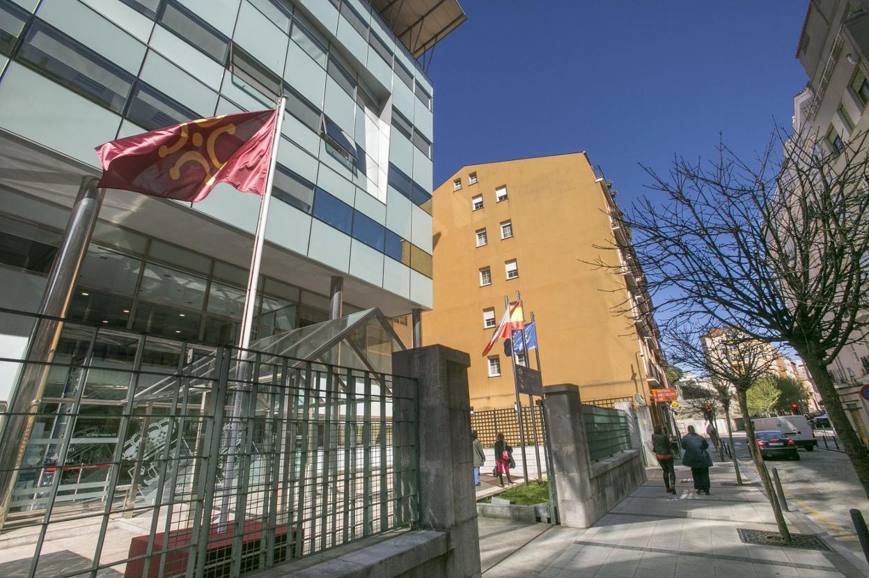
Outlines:
[[[223,499],[220,508],[220,522],[217,531],[226,531],[229,519],[229,498],[232,483],[235,478],[235,442],[238,438],[239,417],[242,414],[242,390],[246,389],[244,382],[248,376],[247,349],[250,347],[250,330],[254,326],[254,308],[256,304],[256,289],[260,279],[260,263],[262,262],[262,246],[266,239],[266,223],[269,219],[269,204],[271,203],[272,184],[275,182],[275,167],[277,166],[277,148],[281,143],[281,127],[283,113],[287,108],[287,97],[281,96],[277,103],[277,118],[275,119],[275,136],[272,141],[271,157],[269,158],[269,176],[266,178],[266,189],[260,201],[260,216],[256,221],[254,236],[254,254],[250,259],[248,273],[248,289],[244,296],[244,313],[242,314],[242,332],[239,339],[239,359],[236,370],[239,389],[235,391],[235,402],[232,407],[232,420],[229,422],[229,445],[227,447],[226,469],[223,476]]]

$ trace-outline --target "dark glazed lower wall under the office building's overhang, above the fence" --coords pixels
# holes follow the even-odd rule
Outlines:
[[[0,218],[0,269],[44,278],[60,233]],[[212,345],[234,343],[248,273],[226,262],[100,223],[67,317],[105,327]],[[255,339],[328,319],[328,297],[269,277],[260,282]],[[15,301],[15,300],[12,300]],[[18,309],[4,299],[0,306]],[[27,308],[35,309],[32,304]],[[345,313],[358,311],[345,305]]]

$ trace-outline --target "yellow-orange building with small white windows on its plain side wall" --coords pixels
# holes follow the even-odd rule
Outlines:
[[[584,401],[648,401],[650,387],[666,385],[640,272],[588,264],[620,264],[619,251],[600,249],[623,235],[609,216],[611,184],[579,152],[468,165],[434,190],[434,309],[422,314],[422,339],[471,355],[475,411],[514,405],[501,342],[481,352],[516,291],[526,322],[534,312],[544,384],[575,383]],[[626,303],[635,315],[614,315]]]

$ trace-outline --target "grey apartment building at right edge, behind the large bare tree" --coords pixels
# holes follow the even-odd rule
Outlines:
[[[835,154],[869,130],[869,0],[810,2],[796,57],[808,83],[793,99],[793,130],[817,136]],[[855,431],[869,443],[869,407],[859,395],[869,383],[869,342],[846,346],[829,370]]]

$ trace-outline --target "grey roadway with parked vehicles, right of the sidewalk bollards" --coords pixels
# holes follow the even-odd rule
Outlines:
[[[734,434],[733,441],[740,465],[748,465],[751,456],[745,434]],[[718,455],[714,457],[718,459]],[[767,468],[777,468],[779,471],[788,505],[801,509],[830,535],[859,552],[859,541],[854,534],[848,510],[858,508],[864,516],[869,516],[869,500],[860,487],[851,462],[842,452],[824,449],[823,443],[812,452],[799,450],[799,457],[799,462],[766,460]],[[756,478],[753,469],[751,475]]]

